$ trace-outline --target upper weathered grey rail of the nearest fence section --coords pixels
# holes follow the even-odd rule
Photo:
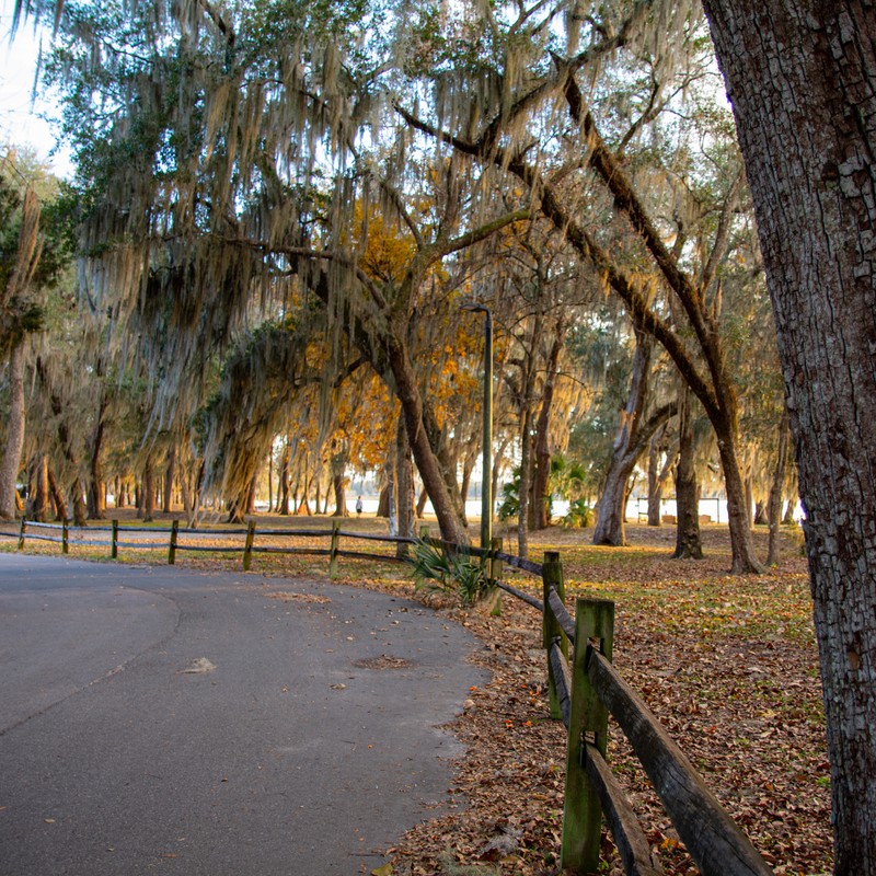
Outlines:
[[[705,786],[644,701],[596,649],[587,673],[621,725],[703,876],[771,876],[748,837]]]

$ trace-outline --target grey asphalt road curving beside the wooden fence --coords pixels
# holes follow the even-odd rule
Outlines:
[[[474,647],[327,583],[2,553],[0,876],[370,873],[448,805]]]

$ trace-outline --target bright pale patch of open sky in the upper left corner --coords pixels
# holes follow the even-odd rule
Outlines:
[[[49,157],[55,136],[41,113],[50,110],[50,104],[37,101],[32,105],[31,101],[39,37],[34,35],[33,24],[25,22],[10,42],[13,7],[14,0],[0,0],[0,151],[5,146],[30,146],[55,173],[70,176],[68,155]]]

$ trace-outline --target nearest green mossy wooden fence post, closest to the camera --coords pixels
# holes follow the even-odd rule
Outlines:
[[[548,564],[545,563],[545,577]],[[546,613],[546,612],[545,612]],[[611,659],[614,638],[614,603],[578,598],[575,607],[575,659],[572,667],[572,714],[566,759],[566,799],[563,809],[561,869],[596,873],[602,808],[585,770],[584,747],[595,745],[604,757],[608,711],[587,676],[587,657],[599,639],[599,650]]]

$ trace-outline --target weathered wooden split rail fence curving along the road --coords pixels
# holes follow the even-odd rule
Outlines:
[[[28,529],[30,528],[30,529]],[[32,529],[60,530],[59,535],[33,532]],[[336,575],[339,556],[378,560],[402,560],[390,554],[364,551],[342,551],[341,538],[365,539],[394,543],[414,543],[413,539],[370,535],[341,530],[336,522],[325,530],[258,530],[260,539],[278,537],[327,538],[327,549],[256,545],[256,528],[197,530],[198,535],[244,535],[242,549],[228,545],[197,544],[180,541],[178,522],[170,528],[111,527],[73,528],[67,523],[49,525],[22,521],[18,534],[19,549],[25,539],[54,541],[69,550],[73,530],[89,533],[108,531],[104,541],[78,540],[78,544],[107,544],[111,556],[117,558],[120,546],[163,548],[152,542],[123,542],[126,532],[169,533],[168,562],[174,563],[177,551],[243,551],[243,567],[250,568],[254,553],[292,553],[328,556],[330,574]],[[10,535],[10,533],[0,533]],[[13,535],[14,538],[14,535]],[[599,865],[600,832],[603,817],[611,830],[624,868],[630,876],[662,874],[659,860],[606,761],[608,721],[611,715],[630,740],[636,757],[659,794],[667,814],[678,831],[702,876],[770,876],[772,871],[749,839],[736,826],[721,803],[705,786],[688,758],[668,736],[657,718],[613,667],[614,603],[607,600],[576,600],[573,618],[565,606],[565,584],[560,554],[548,552],[544,563],[522,560],[502,551],[502,540],[492,548],[449,545],[437,539],[424,540],[448,550],[480,556],[488,564],[487,579],[493,591],[502,590],[538,609],[542,614],[542,645],[548,656],[550,708],[553,718],[563,721],[568,730],[566,752],[566,789],[563,811],[561,867],[575,874],[596,873]],[[537,575],[542,579],[542,599],[502,580],[505,566]],[[569,650],[573,657],[569,660]]]

